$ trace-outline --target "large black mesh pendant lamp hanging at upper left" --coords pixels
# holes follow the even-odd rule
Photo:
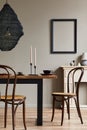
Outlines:
[[[23,34],[23,27],[16,13],[6,1],[0,11],[0,50],[12,50]]]

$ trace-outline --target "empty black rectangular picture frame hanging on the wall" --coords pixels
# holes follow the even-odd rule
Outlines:
[[[77,19],[51,19],[51,53],[77,52]]]

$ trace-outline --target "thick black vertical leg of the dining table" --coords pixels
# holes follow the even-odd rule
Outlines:
[[[37,86],[37,125],[43,125],[43,80],[40,79]]]

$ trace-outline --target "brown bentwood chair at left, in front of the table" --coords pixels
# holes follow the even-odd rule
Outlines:
[[[0,76],[2,76],[2,80],[6,80],[5,85],[5,93],[4,95],[1,94],[1,100],[5,103],[5,109],[4,109],[4,127],[6,128],[7,124],[7,109],[8,104],[11,105],[12,108],[12,127],[13,130],[15,130],[15,114],[16,110],[19,105],[22,105],[23,107],[23,124],[24,128],[26,130],[26,123],[25,123],[25,99],[26,97],[24,95],[15,95],[16,91],[16,72],[9,66],[6,65],[0,65]],[[12,79],[13,77],[13,79]],[[13,80],[13,82],[10,81]]]

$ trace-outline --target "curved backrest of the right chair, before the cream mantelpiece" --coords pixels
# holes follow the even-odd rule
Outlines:
[[[84,74],[83,67],[75,67],[71,69],[67,75],[67,92],[79,94],[79,86]]]

